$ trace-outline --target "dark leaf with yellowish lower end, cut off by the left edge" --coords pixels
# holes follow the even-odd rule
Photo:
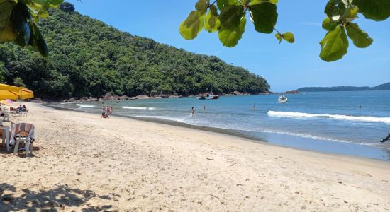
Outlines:
[[[0,0],[0,43],[16,39],[11,23],[12,10],[15,5],[8,0]]]

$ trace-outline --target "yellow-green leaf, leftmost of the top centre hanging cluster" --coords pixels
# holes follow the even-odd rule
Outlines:
[[[180,24],[179,32],[186,40],[194,39],[204,25],[204,13],[191,11],[189,16]]]

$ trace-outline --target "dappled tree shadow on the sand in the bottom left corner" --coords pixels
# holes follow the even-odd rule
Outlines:
[[[67,207],[77,207],[77,211],[113,211],[112,205],[91,206],[90,199],[113,199],[116,194],[98,196],[91,190],[72,189],[67,185],[55,189],[40,190],[21,189],[22,194],[15,196],[16,187],[11,184],[0,184],[0,211],[63,211]]]

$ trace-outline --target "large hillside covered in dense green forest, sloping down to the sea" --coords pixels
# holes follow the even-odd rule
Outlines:
[[[117,95],[196,95],[210,91],[267,91],[267,81],[218,57],[193,54],[123,33],[72,8],[40,20],[50,55],[0,45],[0,80],[41,98]]]

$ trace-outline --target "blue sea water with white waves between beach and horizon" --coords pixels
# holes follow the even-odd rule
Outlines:
[[[173,98],[104,102],[116,115],[233,132],[278,146],[390,160],[390,91],[222,96],[219,100]],[[203,109],[206,105],[206,110]],[[253,109],[253,105],[256,109]],[[359,106],[362,107],[359,107]],[[101,102],[51,106],[101,113]],[[196,114],[191,115],[191,107]]]

